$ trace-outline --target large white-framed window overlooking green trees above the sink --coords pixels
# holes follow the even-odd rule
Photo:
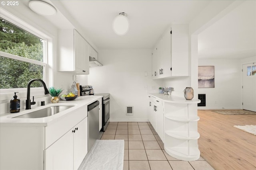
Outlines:
[[[44,80],[45,44],[43,38],[0,18],[0,89],[26,88],[33,78]]]

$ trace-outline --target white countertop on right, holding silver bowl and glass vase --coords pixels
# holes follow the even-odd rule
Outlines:
[[[199,99],[192,99],[192,100],[186,100],[185,97],[178,97],[178,96],[173,96],[173,95],[164,95],[164,94],[160,94],[160,93],[148,93],[151,96],[154,96],[156,98],[161,99],[164,102],[168,102],[168,103],[180,103],[180,104],[196,104],[196,103],[200,103],[201,100]]]

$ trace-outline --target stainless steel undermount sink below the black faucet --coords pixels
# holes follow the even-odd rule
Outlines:
[[[30,113],[26,113],[24,115],[12,117],[12,118],[41,118],[41,117],[48,117],[51,115],[54,115],[56,113],[59,113],[60,111],[64,111],[66,109],[69,109],[73,106],[50,106],[46,107],[44,109],[40,109],[37,111],[32,111]]]

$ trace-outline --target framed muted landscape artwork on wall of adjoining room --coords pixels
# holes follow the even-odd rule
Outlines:
[[[214,88],[214,66],[198,66],[198,88]]]

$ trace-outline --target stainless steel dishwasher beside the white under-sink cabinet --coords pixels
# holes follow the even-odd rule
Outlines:
[[[97,100],[88,105],[88,152],[98,139],[99,132],[99,104]]]

